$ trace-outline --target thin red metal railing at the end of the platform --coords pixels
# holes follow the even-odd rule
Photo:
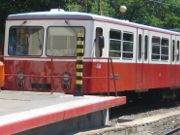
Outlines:
[[[49,61],[51,63],[53,63],[54,59],[59,59],[59,57],[34,57],[34,56],[21,56],[21,57],[17,57],[17,56],[0,56],[0,58],[39,58],[39,59],[49,59]],[[73,60],[76,60],[75,58],[72,58]],[[13,60],[13,59],[12,59]],[[18,59],[17,59],[18,60]],[[115,71],[114,71],[114,65],[113,65],[113,61],[112,58],[94,58],[94,57],[85,57],[84,58],[85,61],[83,61],[83,63],[85,62],[104,62],[107,65],[107,71],[104,74],[104,76],[100,76],[100,77],[96,77],[96,76],[83,76],[83,81],[85,80],[91,80],[91,79],[106,79],[107,80],[107,94],[110,95],[110,92],[113,92],[113,90],[110,90],[110,81],[113,81],[113,87],[114,87],[114,93],[117,96],[117,86],[116,86],[116,80],[118,79],[118,77],[115,76]],[[88,61],[88,60],[92,60],[92,61]],[[86,68],[86,67],[85,67]],[[53,69],[52,69],[53,70]],[[17,77],[18,74],[17,73],[13,73],[13,74],[9,74],[6,73],[5,76],[14,76]],[[63,75],[53,75],[53,71],[51,71],[50,75],[37,75],[37,74],[23,74],[23,77],[35,77],[35,78],[51,78],[51,83],[53,81],[53,78],[70,78],[70,79],[76,79],[75,76],[70,76],[70,77],[64,77]]]

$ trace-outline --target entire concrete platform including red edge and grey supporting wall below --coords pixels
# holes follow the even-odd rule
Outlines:
[[[63,134],[66,130],[105,124],[108,108],[126,97],[76,97],[62,93],[0,92],[0,134]]]

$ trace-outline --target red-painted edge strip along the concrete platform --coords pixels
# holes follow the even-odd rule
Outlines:
[[[60,122],[100,110],[108,109],[114,106],[123,105],[125,103],[126,97],[115,97],[110,100],[98,102],[95,104],[89,104],[86,106],[80,106],[69,110],[54,112],[41,116],[34,116],[33,118],[27,117],[27,119],[0,125],[0,133],[1,135],[15,134],[32,128],[45,126],[51,123]]]

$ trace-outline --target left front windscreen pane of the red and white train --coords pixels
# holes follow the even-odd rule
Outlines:
[[[42,54],[44,30],[42,27],[19,26],[9,31],[8,54],[38,56]]]

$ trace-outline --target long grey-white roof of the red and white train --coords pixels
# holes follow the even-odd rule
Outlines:
[[[101,22],[107,22],[112,24],[121,24],[124,26],[140,28],[155,32],[174,34],[180,36],[178,31],[166,30],[162,28],[147,26],[143,24],[137,24],[129,22],[127,20],[120,20],[106,16],[100,16],[90,13],[81,13],[81,12],[68,12],[61,9],[52,9],[50,11],[44,12],[29,12],[29,13],[20,13],[20,14],[11,14],[7,17],[7,20],[41,20],[41,19],[74,19],[74,20],[95,20]]]

